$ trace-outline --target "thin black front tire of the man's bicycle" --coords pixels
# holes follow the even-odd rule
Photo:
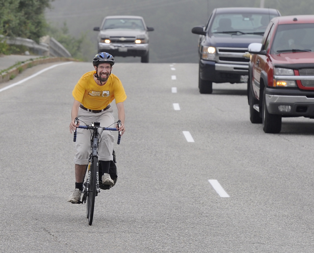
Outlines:
[[[87,196],[87,218],[88,224],[91,225],[93,223],[94,217],[94,207],[95,207],[95,197],[96,197],[96,173],[97,173],[97,163],[98,160],[96,157],[92,158],[91,161],[91,181],[89,184],[89,192]]]

